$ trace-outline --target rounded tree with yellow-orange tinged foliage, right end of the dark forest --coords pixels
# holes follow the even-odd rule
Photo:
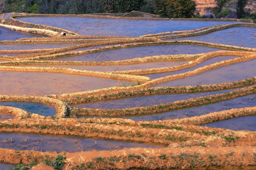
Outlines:
[[[168,18],[191,18],[196,10],[193,0],[152,0],[154,12]]]

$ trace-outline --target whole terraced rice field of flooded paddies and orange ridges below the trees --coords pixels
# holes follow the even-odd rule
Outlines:
[[[255,168],[256,24],[0,17],[0,169]]]

